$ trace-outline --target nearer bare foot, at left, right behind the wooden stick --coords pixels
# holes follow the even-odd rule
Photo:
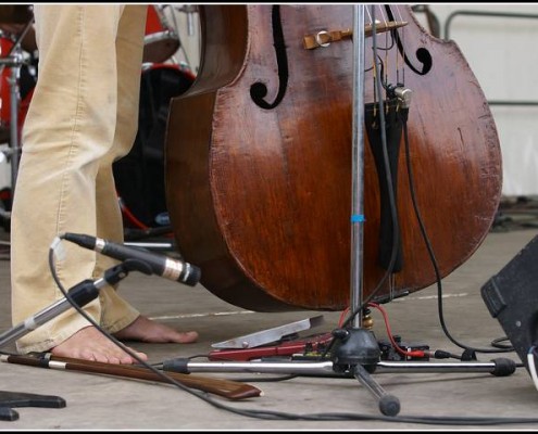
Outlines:
[[[142,360],[148,360],[145,353],[129,347]],[[114,365],[132,365],[138,362],[122,348],[107,339],[95,327],[86,327],[51,349],[53,356],[75,359],[102,361]]]

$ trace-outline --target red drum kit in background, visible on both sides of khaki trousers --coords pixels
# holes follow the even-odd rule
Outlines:
[[[133,230],[168,226],[164,194],[168,103],[195,80],[192,68],[175,58],[182,49],[175,14],[186,11],[191,21],[196,9],[148,5],[139,129],[130,153],[113,166],[124,224]],[[174,27],[168,24],[170,17],[174,18]],[[191,36],[190,28],[188,36]],[[0,5],[0,224],[8,231],[21,131],[37,84],[38,62],[32,5]],[[11,171],[10,176],[4,176],[3,183],[2,163],[7,171]]]

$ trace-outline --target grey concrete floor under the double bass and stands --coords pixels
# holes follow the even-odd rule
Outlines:
[[[534,228],[491,232],[470,260],[443,279],[445,320],[458,342],[484,348],[504,336],[498,320],[489,315],[481,299],[480,288],[537,234],[538,229]],[[4,254],[3,259],[0,260],[0,292],[4,299],[0,306],[0,331],[8,331],[11,328],[9,255]],[[121,291],[143,314],[177,329],[200,332],[200,341],[190,345],[132,345],[147,352],[154,363],[207,355],[216,342],[318,315],[323,315],[325,322],[302,333],[328,332],[336,328],[340,317],[340,312],[245,311],[221,301],[200,285],[184,286],[136,272],[123,282]],[[392,333],[401,335],[403,341],[462,354],[462,349],[451,343],[440,327],[436,286],[396,299],[385,308]],[[377,311],[373,312],[373,317],[376,337],[386,339],[383,318]],[[2,350],[13,350],[13,347],[5,345]],[[490,360],[500,357],[521,362],[513,352],[478,354],[477,366],[488,367]],[[207,359],[200,357],[189,363],[201,369],[207,367],[204,361]],[[14,407],[18,419],[0,421],[0,424],[4,430],[36,431],[538,429],[538,392],[524,368],[517,368],[509,376],[495,376],[489,368],[461,371],[462,363],[455,359],[424,363],[433,368],[431,365],[439,361],[450,366],[439,372],[404,369],[390,373],[379,368],[371,375],[375,383],[399,399],[401,409],[396,417],[384,417],[377,398],[354,378],[315,374],[288,379],[286,369],[268,374],[249,372],[247,368],[237,373],[224,372],[223,369],[191,373],[193,379],[247,381],[247,384],[263,391],[261,396],[230,400],[215,394],[195,395],[154,381],[0,363],[1,390],[4,393],[53,395],[66,403],[63,408]],[[8,394],[9,399],[12,397]],[[267,420],[254,417],[264,411],[285,412],[288,418]],[[329,413],[347,414],[352,420],[327,417]],[[427,423],[421,423],[424,418],[429,418]],[[461,421],[460,418],[466,419]],[[473,423],[474,418],[476,423]],[[504,420],[493,424],[489,418],[523,418],[527,422],[514,424]]]

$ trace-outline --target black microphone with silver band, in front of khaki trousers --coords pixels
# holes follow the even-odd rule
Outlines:
[[[200,280],[200,268],[178,259],[159,255],[143,247],[127,247],[123,244],[85,235],[64,233],[61,238],[120,260],[136,259],[147,264],[154,275],[195,286]]]

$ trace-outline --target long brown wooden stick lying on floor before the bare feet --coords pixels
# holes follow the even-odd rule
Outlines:
[[[32,356],[1,355],[0,360],[9,363],[26,365],[39,368],[101,373],[172,384],[170,381],[155,372],[147,368],[136,367],[133,365],[103,363],[101,361],[82,360],[58,356],[38,358]],[[177,372],[166,372],[166,375],[187,387],[213,393],[232,400],[251,398],[262,394],[258,387],[233,380],[205,378]]]

